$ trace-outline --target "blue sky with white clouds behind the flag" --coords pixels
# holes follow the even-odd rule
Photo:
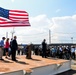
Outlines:
[[[0,39],[14,29],[19,44],[76,43],[76,0],[0,0],[0,7],[27,11],[31,25],[0,28]]]

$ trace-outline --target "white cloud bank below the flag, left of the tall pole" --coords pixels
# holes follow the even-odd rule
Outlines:
[[[18,43],[41,43],[45,38],[48,40],[48,32],[50,27],[50,19],[46,15],[38,15],[36,17],[29,18],[31,26],[29,27],[15,27],[14,35],[17,35]],[[6,36],[8,32],[8,37],[11,38],[13,28],[2,28],[1,36]]]

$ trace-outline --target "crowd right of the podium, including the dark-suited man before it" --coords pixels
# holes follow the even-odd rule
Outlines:
[[[35,46],[33,52],[35,55],[40,55],[43,58],[76,59],[75,46],[50,46],[46,43],[46,39],[42,41],[41,45]]]

